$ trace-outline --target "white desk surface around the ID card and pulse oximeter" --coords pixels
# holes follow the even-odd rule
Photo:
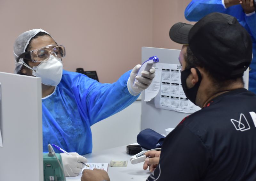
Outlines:
[[[131,155],[126,153],[126,146],[110,148],[84,155],[89,163],[107,163],[108,175],[111,181],[145,181],[150,175],[149,170],[143,170],[143,163],[131,164]],[[110,167],[110,161],[128,161],[127,167]],[[80,178],[66,177],[67,181],[81,181]]]

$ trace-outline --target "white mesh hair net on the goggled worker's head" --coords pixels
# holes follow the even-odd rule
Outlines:
[[[13,54],[14,54],[14,60],[15,60],[15,71],[14,71],[14,73],[18,73],[20,71],[22,65],[25,64],[23,62],[23,58],[20,58],[19,62],[16,62],[17,58],[22,53],[25,52],[31,38],[33,38],[39,32],[47,33],[46,31],[44,31],[42,29],[33,29],[33,30],[29,30],[29,31],[26,31],[26,32],[20,34],[18,36],[18,38],[15,40],[15,43],[13,45]],[[47,34],[49,34],[49,33],[47,33]]]

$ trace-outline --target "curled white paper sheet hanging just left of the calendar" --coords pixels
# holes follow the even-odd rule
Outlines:
[[[155,67],[156,72],[155,72],[155,78],[153,79],[152,83],[150,86],[145,90],[145,98],[144,101],[148,102],[156,95],[158,94],[160,90],[160,81],[161,81],[161,69],[159,67]]]

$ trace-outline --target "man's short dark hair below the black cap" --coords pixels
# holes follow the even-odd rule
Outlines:
[[[185,62],[185,69],[192,67],[204,68],[217,87],[226,87],[227,85],[230,85],[236,81],[241,81],[244,84],[242,76],[238,78],[229,78],[227,76],[220,75],[218,72],[212,71],[211,67],[208,67],[203,61],[196,58],[189,46],[187,47],[187,53],[185,54]]]

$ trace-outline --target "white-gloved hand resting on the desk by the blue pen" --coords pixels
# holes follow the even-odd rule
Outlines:
[[[84,168],[84,164],[80,162],[87,162],[87,159],[78,153],[69,153],[71,155],[67,155],[66,153],[61,153],[61,160],[63,164],[63,169],[65,173],[65,177],[74,177],[78,176],[79,173]]]

